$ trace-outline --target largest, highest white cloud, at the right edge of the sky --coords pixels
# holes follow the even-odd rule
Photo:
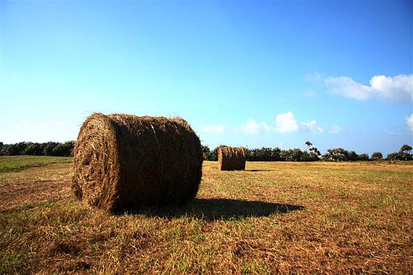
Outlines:
[[[324,84],[333,94],[347,98],[367,100],[381,98],[391,102],[406,102],[413,100],[413,75],[373,76],[370,86],[357,83],[347,76],[329,77]]]

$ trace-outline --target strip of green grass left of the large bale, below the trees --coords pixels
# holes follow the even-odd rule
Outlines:
[[[72,157],[45,157],[36,155],[8,155],[0,157],[0,173],[24,170],[56,163],[70,163]]]

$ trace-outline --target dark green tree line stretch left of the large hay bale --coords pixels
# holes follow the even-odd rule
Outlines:
[[[74,148],[74,141],[69,142],[17,142],[3,144],[0,142],[0,155],[50,155],[56,157],[70,157]]]

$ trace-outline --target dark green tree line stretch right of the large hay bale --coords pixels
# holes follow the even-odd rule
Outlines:
[[[220,145],[211,151],[208,146],[202,145],[204,159],[212,161],[218,160],[218,149],[225,146],[226,145]],[[404,144],[401,146],[399,152],[390,153],[385,159],[390,161],[412,160],[413,155],[411,151],[412,146]],[[347,151],[343,148],[331,148],[328,149],[324,155],[321,155],[319,150],[309,141],[306,141],[306,148],[304,150],[299,148],[282,150],[278,147],[246,148],[246,160],[250,162],[316,162],[319,160],[343,162],[381,159],[384,159],[381,152],[374,152],[371,157],[369,157],[366,153],[357,154],[354,151]]]

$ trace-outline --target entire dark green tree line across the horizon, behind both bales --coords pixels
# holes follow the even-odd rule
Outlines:
[[[68,142],[18,142],[14,144],[3,144],[0,142],[0,155],[50,155],[57,157],[70,157],[73,155],[74,141]],[[347,151],[343,148],[328,149],[324,155],[313,146],[309,141],[306,141],[306,148],[282,150],[278,147],[269,148],[246,148],[246,160],[250,162],[316,162],[318,160],[343,162],[343,161],[367,161],[381,160],[383,154],[380,152],[372,153],[371,157],[368,154],[357,154],[354,151]],[[205,160],[218,160],[218,148],[225,147],[220,145],[212,151],[208,146],[202,145],[202,153]],[[404,144],[399,152],[390,153],[385,157],[392,162],[396,160],[412,160],[412,146]]]

